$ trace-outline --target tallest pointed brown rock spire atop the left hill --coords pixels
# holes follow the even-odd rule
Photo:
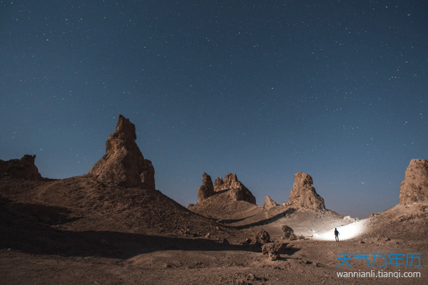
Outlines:
[[[136,126],[119,115],[116,131],[106,141],[106,154],[89,170],[107,185],[155,189],[155,169],[136,144]]]

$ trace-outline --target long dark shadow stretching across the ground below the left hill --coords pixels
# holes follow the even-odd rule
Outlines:
[[[56,229],[56,224],[72,220],[67,217],[67,211],[65,208],[41,204],[13,203],[0,197],[0,248],[61,257],[96,256],[114,259],[129,259],[163,250],[261,252],[260,246],[228,244],[210,239]],[[293,254],[293,249],[290,250],[289,254]]]

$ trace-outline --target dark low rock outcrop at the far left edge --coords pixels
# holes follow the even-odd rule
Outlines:
[[[36,155],[24,155],[20,160],[0,160],[0,175],[8,175],[26,180],[39,180],[41,175],[34,164]]]

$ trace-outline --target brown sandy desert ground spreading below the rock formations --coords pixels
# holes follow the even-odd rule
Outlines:
[[[361,221],[330,211],[227,207],[205,218],[161,192],[112,189],[91,177],[2,179],[0,284],[428,284],[427,205]],[[282,239],[283,224],[304,239]],[[334,227],[341,238],[360,234],[332,242]],[[279,260],[244,242],[260,229],[286,244]],[[367,254],[369,265],[374,253],[403,254],[404,264],[352,259],[352,267],[338,266],[340,253]],[[420,254],[420,266],[417,259],[405,266],[409,253]],[[337,276],[347,272],[360,277]],[[404,277],[409,273],[420,276]]]

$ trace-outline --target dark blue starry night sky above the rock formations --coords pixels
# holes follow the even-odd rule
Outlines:
[[[0,0],[0,159],[86,174],[122,114],[185,207],[203,172],[281,204],[301,171],[328,209],[382,212],[428,159],[427,14],[414,0]]]

